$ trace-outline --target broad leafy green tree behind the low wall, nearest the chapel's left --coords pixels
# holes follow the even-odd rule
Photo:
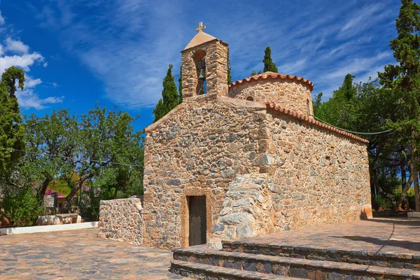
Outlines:
[[[80,179],[73,183],[71,176],[64,178],[71,191],[62,212],[69,211],[74,195],[85,181],[94,181],[104,193],[116,197],[118,190],[124,190],[130,181],[135,181],[132,176],[143,174],[143,138],[141,132],[134,132],[134,120],[128,113],[107,111],[99,106],[80,116],[77,150],[65,162],[67,170],[76,172]],[[138,187],[141,192],[142,186]]]

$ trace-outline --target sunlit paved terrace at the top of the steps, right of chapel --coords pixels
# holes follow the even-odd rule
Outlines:
[[[419,255],[420,219],[373,218],[242,239],[247,244],[276,244],[343,251]]]

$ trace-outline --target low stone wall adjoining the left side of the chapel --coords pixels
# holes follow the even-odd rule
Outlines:
[[[98,237],[143,244],[143,207],[140,198],[102,200]]]

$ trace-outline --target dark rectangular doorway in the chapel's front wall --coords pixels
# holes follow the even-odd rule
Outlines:
[[[188,197],[188,209],[190,211],[189,245],[206,244],[206,197]]]

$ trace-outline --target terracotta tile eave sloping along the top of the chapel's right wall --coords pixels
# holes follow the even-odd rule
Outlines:
[[[365,144],[369,143],[369,140],[366,140],[366,139],[361,138],[361,137],[357,137],[356,135],[351,134],[349,132],[344,132],[343,130],[339,130],[335,127],[332,127],[331,125],[327,125],[325,123],[318,122],[318,120],[315,120],[314,118],[309,118],[307,116],[302,116],[301,114],[296,113],[295,111],[291,111],[291,110],[288,110],[286,108],[282,108],[280,106],[277,106],[273,102],[266,102],[265,106],[267,106],[267,109],[269,109],[271,111],[274,111],[276,113],[281,113],[282,115],[295,118],[296,120],[301,120],[304,123],[307,123],[309,125],[314,125],[316,127],[323,128],[324,130],[330,130],[331,132],[335,132],[337,134],[342,134],[343,136],[345,136],[347,138],[354,139],[356,141],[359,141],[359,142],[362,142],[362,143],[365,143]]]

